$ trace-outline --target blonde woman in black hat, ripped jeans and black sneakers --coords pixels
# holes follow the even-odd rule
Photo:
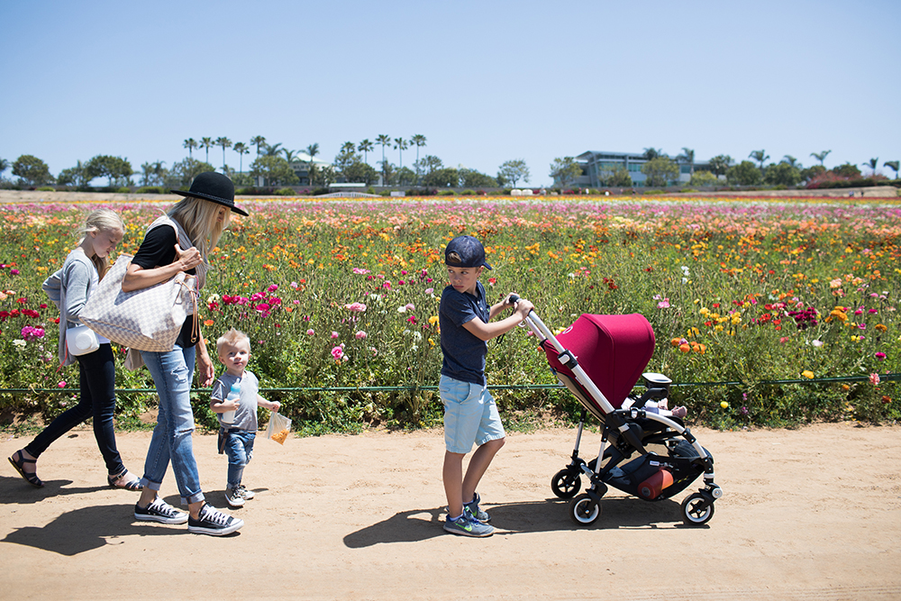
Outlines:
[[[150,224],[123,279],[125,292],[167,281],[179,271],[196,275],[198,290],[204,287],[210,269],[207,256],[228,227],[232,211],[247,214],[234,205],[232,180],[219,173],[201,173],[187,192],[172,191],[185,198]],[[213,382],[215,372],[195,317],[187,317],[172,351],[140,351],[140,359],[150,370],[157,388],[159,414],[144,462],[143,490],[134,506],[134,519],[161,524],[187,522],[188,532],[221,536],[238,530],[244,522],[208,505],[200,489],[191,441],[194,432],[191,382],[195,361],[203,386]],[[134,359],[132,356],[132,364]],[[169,462],[188,514],[168,505],[159,496]]]

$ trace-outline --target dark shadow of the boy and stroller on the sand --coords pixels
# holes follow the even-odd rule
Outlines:
[[[595,524],[578,526],[569,519],[569,500],[549,498],[505,505],[483,505],[491,514],[496,534],[528,534],[577,530],[670,528],[682,525],[679,504],[665,499],[655,503],[634,497],[601,499],[601,515]],[[444,508],[399,512],[382,522],[344,537],[344,546],[361,549],[388,542],[418,542],[444,535]]]

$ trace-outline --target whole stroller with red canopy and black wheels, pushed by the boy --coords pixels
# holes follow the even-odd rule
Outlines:
[[[714,484],[713,457],[685,423],[657,413],[657,403],[649,403],[667,399],[672,380],[642,373],[654,351],[648,320],[641,314],[582,314],[559,336],[534,311],[526,323],[542,340],[551,370],[583,406],[569,465],[551,478],[554,494],[572,499],[570,519],[578,525],[593,524],[601,514],[600,500],[607,487],[660,501],[677,495],[704,474],[705,486],[685,498],[681,515],[687,525],[706,524],[723,490]],[[631,396],[639,378],[644,393]],[[578,456],[578,445],[588,413],[600,420],[603,433],[597,457],[586,462]],[[589,487],[577,496],[582,476]]]

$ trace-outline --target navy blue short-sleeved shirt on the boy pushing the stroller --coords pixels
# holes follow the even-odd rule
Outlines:
[[[485,300],[485,287],[476,282],[475,296],[458,292],[452,286],[441,292],[438,323],[441,326],[441,375],[463,382],[485,386],[486,341],[469,333],[464,323],[478,317],[488,323],[490,313]]]

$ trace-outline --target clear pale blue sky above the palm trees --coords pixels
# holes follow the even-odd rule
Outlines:
[[[899,31],[888,1],[0,0],[0,158],[140,171],[263,135],[332,160],[419,133],[453,167],[525,159],[534,186],[585,150],[881,168],[901,159]]]

